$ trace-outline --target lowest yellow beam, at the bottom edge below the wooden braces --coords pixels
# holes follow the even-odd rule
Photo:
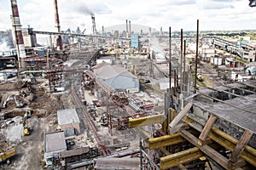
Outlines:
[[[183,150],[170,156],[164,156],[160,158],[160,169],[177,167],[181,163],[195,161],[201,156],[204,156],[204,154],[197,147],[191,148],[189,150]]]

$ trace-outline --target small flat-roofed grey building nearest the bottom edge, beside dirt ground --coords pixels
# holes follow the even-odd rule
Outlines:
[[[53,164],[53,159],[61,151],[67,150],[64,132],[46,133],[44,136],[44,160],[46,165]]]

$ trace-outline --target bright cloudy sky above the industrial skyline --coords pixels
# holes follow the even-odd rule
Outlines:
[[[55,31],[53,0],[17,0],[22,27],[37,31]],[[95,14],[96,29],[102,26],[131,24],[194,31],[196,20],[200,30],[256,29],[256,7],[248,0],[58,0],[61,30],[79,26],[91,33],[90,13]],[[11,28],[9,0],[0,0],[0,30]]]

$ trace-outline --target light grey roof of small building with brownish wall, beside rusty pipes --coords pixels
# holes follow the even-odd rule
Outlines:
[[[79,123],[79,116],[75,109],[65,109],[57,111],[59,125],[67,125],[71,123]]]

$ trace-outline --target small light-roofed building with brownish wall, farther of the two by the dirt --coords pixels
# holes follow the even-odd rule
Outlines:
[[[59,110],[57,116],[58,124],[66,137],[81,133],[79,116],[75,109]]]

